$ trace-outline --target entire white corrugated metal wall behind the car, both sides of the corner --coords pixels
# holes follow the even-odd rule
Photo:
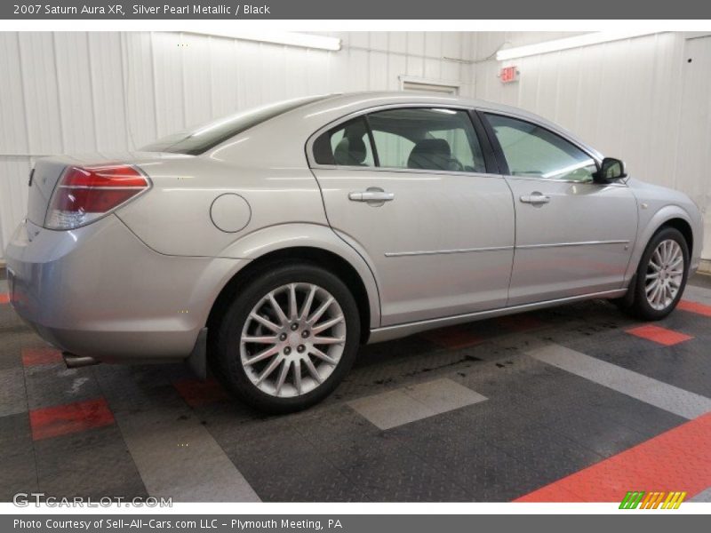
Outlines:
[[[711,39],[664,33],[532,56],[513,61],[520,81],[503,85],[501,64],[486,59],[499,46],[571,34],[328,35],[343,50],[176,33],[0,33],[0,260],[36,156],[132,149],[275,99],[395,90],[401,75],[530,109],[623,157],[636,176],[687,192],[707,211],[711,259]]]

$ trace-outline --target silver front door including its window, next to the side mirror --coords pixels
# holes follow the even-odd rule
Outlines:
[[[629,188],[594,183],[592,155],[539,124],[484,116],[515,202],[508,305],[619,289],[637,230]]]

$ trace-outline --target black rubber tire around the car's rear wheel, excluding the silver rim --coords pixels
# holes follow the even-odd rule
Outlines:
[[[252,309],[272,290],[290,283],[310,283],[328,291],[340,306],[346,326],[346,339],[340,359],[328,378],[306,394],[277,397],[252,383],[241,360],[240,339]],[[360,344],[360,315],[356,300],[340,278],[308,262],[280,263],[242,285],[228,305],[216,331],[211,331],[210,362],[220,382],[243,402],[270,414],[304,410],[331,394],[346,376],[356,359]],[[293,362],[299,364],[300,362]],[[281,369],[281,365],[277,367]],[[290,371],[294,371],[291,367]],[[277,391],[278,393],[278,391]]]

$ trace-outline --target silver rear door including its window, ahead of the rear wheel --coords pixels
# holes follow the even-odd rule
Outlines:
[[[443,107],[356,116],[313,142],[329,222],[370,258],[383,326],[506,304],[514,208],[485,151],[468,111]]]

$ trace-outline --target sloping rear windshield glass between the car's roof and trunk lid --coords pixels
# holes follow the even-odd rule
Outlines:
[[[290,99],[268,106],[254,107],[236,115],[230,115],[196,128],[180,131],[158,139],[148,146],[140,148],[142,152],[170,152],[172,154],[200,155],[212,147],[249,130],[259,123],[268,121],[297,107],[327,98],[316,96]]]

